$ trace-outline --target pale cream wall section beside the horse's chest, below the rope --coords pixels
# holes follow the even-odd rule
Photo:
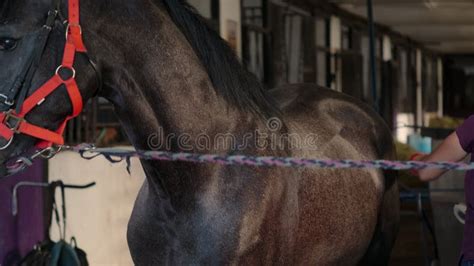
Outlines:
[[[132,174],[124,163],[112,165],[103,158],[86,161],[64,152],[49,161],[49,180],[97,186],[66,191],[67,235],[76,236],[87,252],[90,265],[133,265],[126,241],[127,223],[144,173],[132,160]],[[57,197],[60,199],[60,197]],[[57,228],[51,230],[57,239]]]

